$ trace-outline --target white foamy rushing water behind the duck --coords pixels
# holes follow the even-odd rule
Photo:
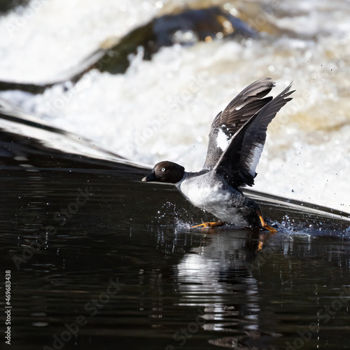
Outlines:
[[[350,212],[349,3],[226,2],[233,12],[259,8],[248,22],[286,34],[174,45],[151,61],[140,51],[123,75],[90,71],[66,92],[57,85],[37,96],[1,97],[132,160],[197,170],[211,121],[239,91],[270,76],[277,94],[293,80],[294,99],[269,126],[254,188]],[[0,80],[59,77],[106,38],[123,36],[170,3],[193,1],[41,1],[12,36],[8,23],[22,14],[10,13],[0,19]]]

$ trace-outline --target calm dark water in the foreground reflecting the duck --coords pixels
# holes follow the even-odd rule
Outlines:
[[[190,230],[145,169],[1,140],[8,349],[350,349],[345,218],[255,194],[276,235]]]

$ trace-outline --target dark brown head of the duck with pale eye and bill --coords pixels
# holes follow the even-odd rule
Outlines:
[[[144,177],[142,181],[158,181],[158,182],[168,182],[176,183],[182,180],[185,174],[185,168],[181,165],[168,162],[160,162],[155,165],[151,174]]]

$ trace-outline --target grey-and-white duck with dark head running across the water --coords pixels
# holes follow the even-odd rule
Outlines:
[[[211,124],[207,158],[200,172],[185,172],[181,165],[164,161],[155,165],[142,181],[174,183],[195,207],[209,211],[221,221],[275,232],[262,218],[259,205],[241,192],[242,187],[254,184],[267,125],[292,99],[288,97],[294,92],[289,91],[291,84],[275,98],[265,97],[274,85],[271,78],[257,80],[218,113]]]

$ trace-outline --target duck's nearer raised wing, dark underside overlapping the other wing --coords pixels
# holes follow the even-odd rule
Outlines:
[[[287,98],[294,91],[290,85],[281,94],[272,99],[258,113],[255,113],[232,137],[230,144],[214,167],[216,172],[237,188],[253,186],[255,169],[265,145],[267,125],[276,113],[292,98]]]

